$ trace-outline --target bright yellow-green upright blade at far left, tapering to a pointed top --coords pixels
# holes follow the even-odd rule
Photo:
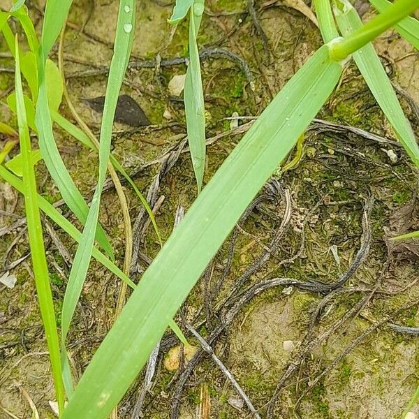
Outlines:
[[[43,233],[41,225],[41,214],[38,207],[36,193],[36,178],[34,165],[31,159],[31,138],[26,119],[26,110],[24,106],[24,97],[22,89],[22,78],[20,75],[20,57],[19,45],[15,44],[16,54],[16,72],[15,72],[15,90],[17,105],[17,122],[19,126],[20,152],[22,154],[22,175],[24,184],[24,205],[27,215],[27,226],[29,235],[29,247],[31,249],[32,265],[34,267],[34,278],[36,292],[38,294],[39,308],[47,337],[47,346],[50,353],[50,362],[52,367],[52,376],[54,378],[54,387],[59,405],[59,410],[64,408],[64,388],[61,380],[61,366],[59,355],[59,341],[57,334],[57,324],[55,323],[54,302],[52,301],[52,292],[50,279],[45,258],[45,247],[43,242]]]

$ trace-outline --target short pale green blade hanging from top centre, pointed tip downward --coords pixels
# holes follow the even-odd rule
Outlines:
[[[205,103],[196,42],[203,11],[203,0],[195,0],[189,12],[189,66],[184,87],[186,129],[198,193],[203,186],[205,170]]]

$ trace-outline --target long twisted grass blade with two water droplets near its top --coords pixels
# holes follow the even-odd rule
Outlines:
[[[99,147],[99,173],[96,191],[93,199],[87,221],[82,233],[82,241],[75,253],[73,267],[66,293],[64,295],[63,308],[61,312],[61,365],[64,373],[64,385],[68,397],[71,397],[72,384],[69,379],[70,370],[66,357],[66,337],[70,328],[71,319],[75,307],[82,291],[84,280],[91,258],[91,252],[94,246],[94,236],[98,221],[99,208],[101,204],[101,193],[106,178],[106,170],[110,156],[110,142],[112,138],[112,125],[117,108],[119,90],[122,87],[128,59],[131,53],[133,43],[133,29],[135,24],[135,0],[122,0],[119,3],[117,17],[117,31],[115,36],[114,54],[110,63],[108,85],[106,87],[105,105],[103,108],[103,119],[101,125],[100,147]]]

